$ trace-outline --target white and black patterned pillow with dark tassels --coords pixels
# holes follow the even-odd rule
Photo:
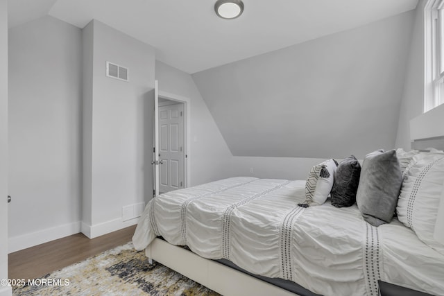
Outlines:
[[[334,159],[327,159],[316,164],[310,170],[305,182],[305,202],[300,207],[321,205],[327,200],[333,186],[333,175],[338,163]]]

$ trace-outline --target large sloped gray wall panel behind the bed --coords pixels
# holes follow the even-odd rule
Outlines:
[[[234,156],[393,148],[414,12],[192,75]]]

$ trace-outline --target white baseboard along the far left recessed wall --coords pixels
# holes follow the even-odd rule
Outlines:
[[[39,230],[38,232],[32,232],[30,234],[14,236],[8,239],[8,253],[40,245],[41,243],[54,241],[58,238],[70,236],[72,234],[78,234],[79,232],[80,221]]]

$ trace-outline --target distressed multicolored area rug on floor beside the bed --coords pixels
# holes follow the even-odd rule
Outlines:
[[[219,295],[160,263],[150,265],[133,243],[23,284],[12,295]]]

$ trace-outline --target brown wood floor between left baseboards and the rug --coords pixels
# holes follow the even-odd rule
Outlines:
[[[8,255],[9,279],[36,279],[131,241],[136,226],[89,239],[74,234]]]

